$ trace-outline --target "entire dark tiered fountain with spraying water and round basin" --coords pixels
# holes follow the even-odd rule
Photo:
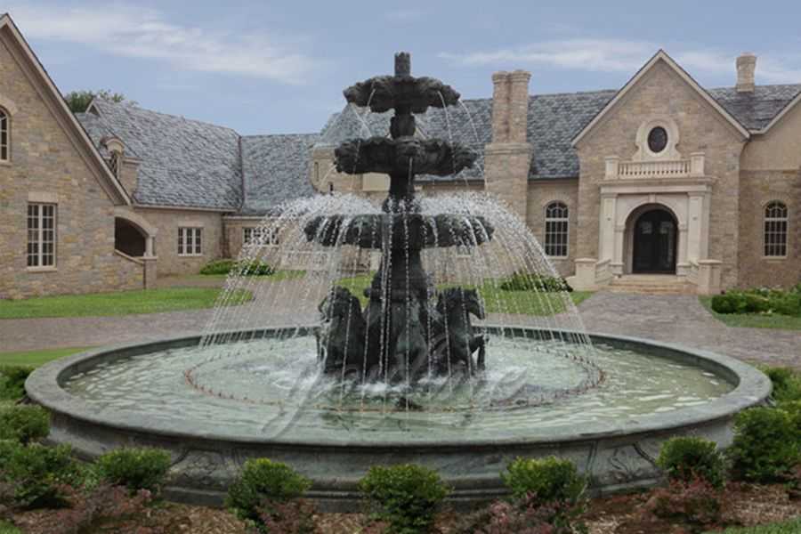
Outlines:
[[[389,137],[334,151],[339,173],[389,175],[380,208],[346,194],[289,203],[243,248],[203,335],[37,369],[26,388],[53,412],[50,441],[83,457],[166,449],[167,495],[206,504],[247,458],[271,457],[309,476],[320,506],[347,510],[368,466],[395,462],[437,469],[462,503],[501,495],[519,456],[568,457],[595,491],[652,484],[661,442],[726,446],[732,417],[765,400],[767,378],[738,360],[587,334],[537,239],[491,198],[417,198],[418,176],[478,159],[423,132],[437,113],[449,125],[459,94],[412,77],[409,54],[344,95],[389,122]],[[248,276],[258,262],[306,268],[276,282]],[[514,291],[521,272],[540,284]],[[227,305],[242,292],[253,300]]]

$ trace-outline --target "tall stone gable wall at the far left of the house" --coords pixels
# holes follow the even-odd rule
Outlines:
[[[142,265],[114,254],[114,205],[0,34],[0,96],[13,101],[0,164],[0,298],[141,289]],[[15,50],[15,53],[12,53]],[[27,267],[28,198],[57,204],[56,265]]]

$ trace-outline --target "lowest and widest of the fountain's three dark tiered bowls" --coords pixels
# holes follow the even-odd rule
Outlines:
[[[323,247],[476,247],[492,239],[494,228],[481,215],[358,214],[320,215],[306,224],[306,239]]]

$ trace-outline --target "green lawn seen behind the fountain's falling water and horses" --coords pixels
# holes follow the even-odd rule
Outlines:
[[[362,275],[352,278],[340,279],[337,285],[346,287],[353,295],[359,297],[362,305],[367,304],[367,297],[364,296],[364,288],[369,287],[372,280],[371,275]],[[441,285],[439,288],[449,287]],[[467,286],[464,286],[467,287]],[[485,283],[479,292],[484,298],[484,303],[488,313],[521,313],[523,315],[547,316],[562,313],[567,306],[559,293],[538,293],[530,291],[504,291],[498,289],[491,282]],[[570,299],[578,305],[592,295],[590,291],[573,291]]]

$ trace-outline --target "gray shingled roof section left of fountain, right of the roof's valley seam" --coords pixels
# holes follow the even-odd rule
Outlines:
[[[239,214],[264,214],[282,202],[314,194],[309,180],[319,134],[242,137],[245,202]]]

